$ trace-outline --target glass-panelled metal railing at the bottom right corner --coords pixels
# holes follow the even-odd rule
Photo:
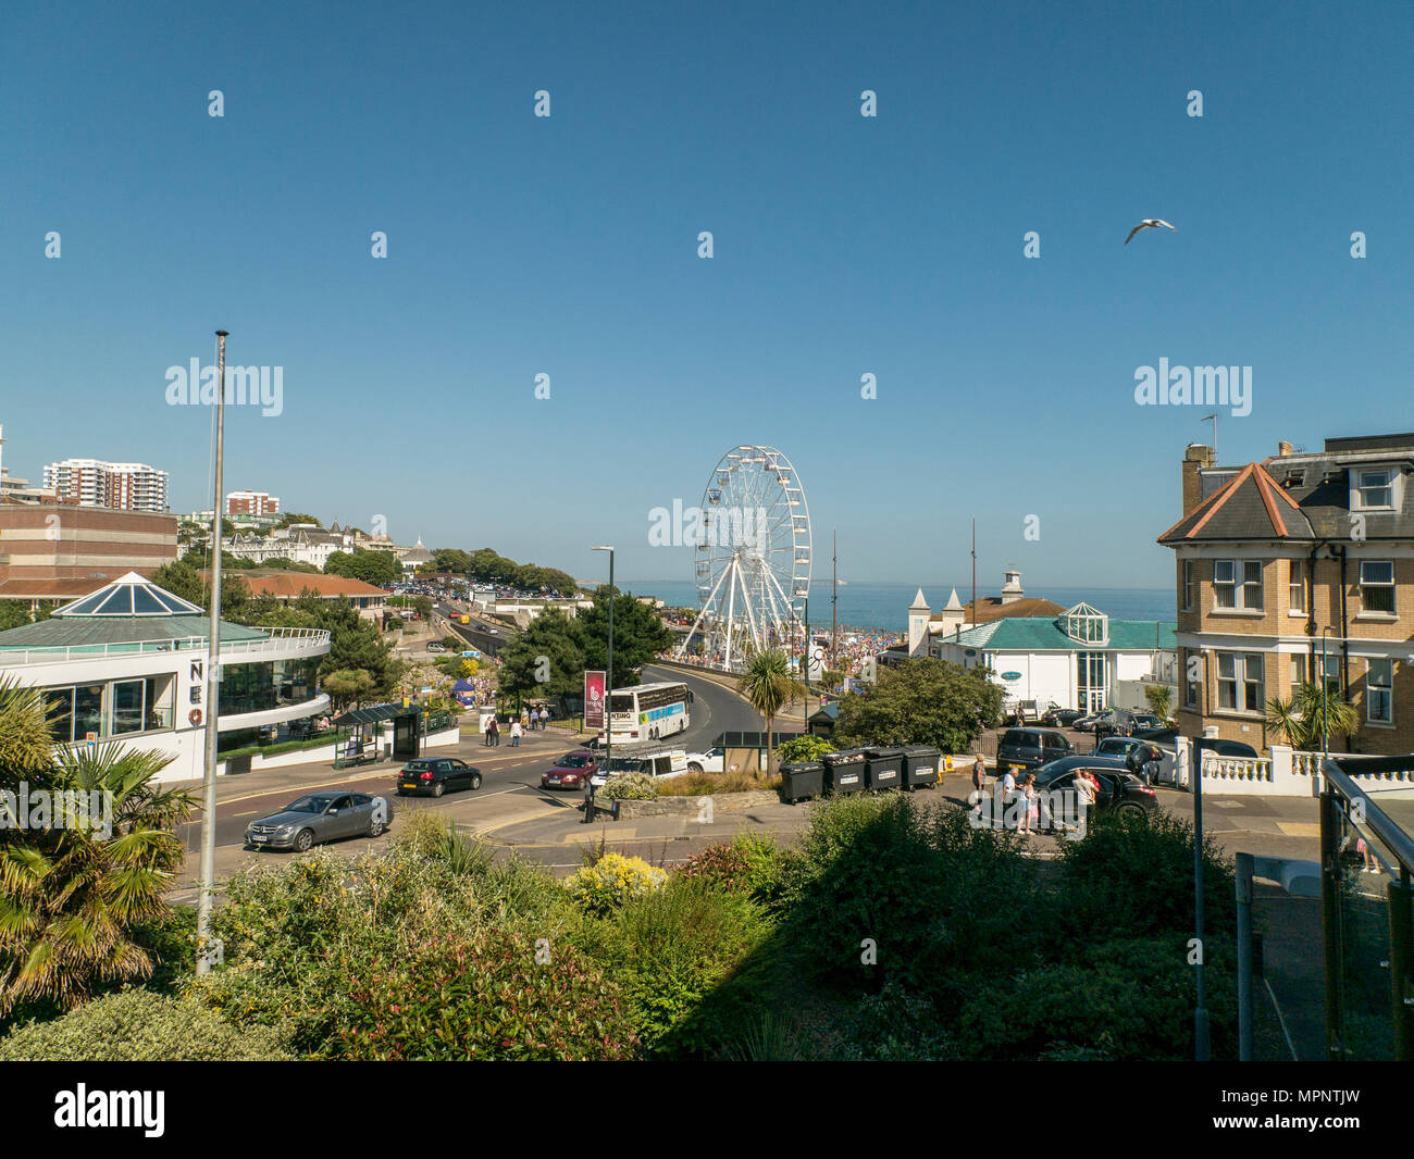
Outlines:
[[[1366,758],[1321,772],[1321,934],[1326,1057],[1414,1060],[1414,837],[1367,792]],[[1383,758],[1407,780],[1414,755]],[[1363,769],[1360,766],[1365,766]],[[1389,769],[1383,769],[1389,766]],[[1404,773],[1404,776],[1397,776]]]

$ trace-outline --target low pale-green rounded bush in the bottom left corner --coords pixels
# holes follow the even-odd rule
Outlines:
[[[252,1061],[291,1057],[277,1032],[240,1029],[208,1006],[150,989],[95,998],[0,1040],[0,1061]]]

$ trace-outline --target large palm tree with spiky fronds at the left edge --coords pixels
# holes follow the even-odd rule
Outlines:
[[[11,693],[0,690],[0,736],[13,751],[42,745],[45,762],[23,779],[31,801],[48,792],[52,814],[42,827],[24,817],[0,828],[0,1016],[37,999],[72,1008],[99,985],[151,974],[134,926],[167,913],[182,862],[174,830],[194,804],[153,784],[165,753],[103,745],[51,756],[42,707],[35,717]]]

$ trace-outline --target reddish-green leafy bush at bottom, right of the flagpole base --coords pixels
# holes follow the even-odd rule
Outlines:
[[[356,972],[331,1049],[351,1060],[617,1060],[636,1053],[604,974],[527,934],[445,936]]]

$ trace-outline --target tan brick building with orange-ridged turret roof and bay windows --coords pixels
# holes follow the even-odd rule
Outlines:
[[[1414,434],[1281,442],[1239,466],[1186,449],[1182,519],[1158,537],[1175,555],[1185,732],[1268,748],[1267,702],[1324,678],[1359,714],[1350,749],[1414,751],[1411,475]]]

